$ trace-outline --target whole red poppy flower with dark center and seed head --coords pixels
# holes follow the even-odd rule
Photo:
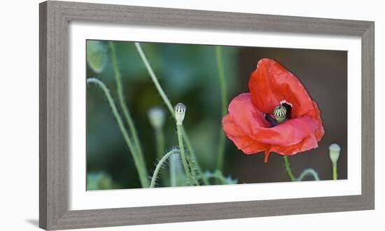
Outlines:
[[[274,59],[260,59],[249,93],[232,99],[223,130],[245,154],[295,155],[318,147],[325,130],[320,111],[300,80]]]

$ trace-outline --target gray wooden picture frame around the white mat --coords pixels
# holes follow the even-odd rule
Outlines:
[[[68,24],[71,21],[360,36],[362,194],[69,211]],[[45,230],[374,209],[374,22],[46,1],[40,3],[39,86],[39,225]]]

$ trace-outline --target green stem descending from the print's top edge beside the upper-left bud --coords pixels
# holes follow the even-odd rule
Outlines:
[[[109,42],[109,45],[111,48],[113,71],[115,73],[114,76],[115,76],[115,80],[116,80],[116,90],[118,91],[118,101],[119,101],[120,107],[123,110],[123,114],[125,116],[125,119],[127,120],[128,127],[129,127],[130,132],[132,134],[132,137],[134,139],[134,144],[135,144],[135,148],[136,148],[135,152],[137,153],[139,160],[142,162],[142,165],[144,167],[144,171],[146,172],[146,175],[147,175],[146,161],[144,160],[144,154],[143,154],[141,144],[140,144],[140,141],[138,138],[138,132],[137,132],[137,129],[135,128],[134,120],[132,120],[132,117],[130,115],[130,111],[127,108],[127,104],[125,103],[122,78],[120,76],[118,60],[116,59],[115,46],[113,45],[112,41]]]

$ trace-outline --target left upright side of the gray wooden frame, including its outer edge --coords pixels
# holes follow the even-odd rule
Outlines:
[[[41,228],[50,229],[68,211],[69,79],[67,22],[57,4],[41,3],[40,207]]]

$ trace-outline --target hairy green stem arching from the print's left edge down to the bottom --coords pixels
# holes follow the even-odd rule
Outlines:
[[[87,83],[94,83],[95,85],[99,86],[103,90],[104,95],[106,96],[107,101],[109,102],[109,104],[111,106],[113,116],[115,116],[116,122],[118,123],[118,126],[120,128],[120,132],[122,132],[123,138],[125,139],[125,142],[126,142],[128,148],[132,154],[132,158],[134,159],[134,164],[135,164],[135,167],[137,167],[141,186],[142,186],[142,188],[147,188],[148,187],[148,179],[147,179],[146,167],[143,166],[143,162],[141,162],[139,156],[135,152],[135,149],[134,149],[134,146],[133,146],[132,141],[130,139],[130,136],[128,135],[127,130],[125,129],[125,125],[123,124],[123,120],[118,113],[118,109],[116,108],[116,104],[115,104],[115,102],[113,102],[109,88],[107,88],[106,85],[101,80],[99,80],[97,78],[87,78]]]

